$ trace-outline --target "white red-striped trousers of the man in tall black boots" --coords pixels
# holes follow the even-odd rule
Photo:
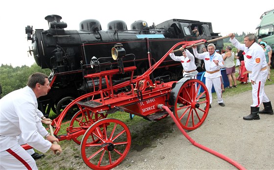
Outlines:
[[[259,107],[260,104],[269,102],[270,100],[265,93],[265,83],[266,81],[259,81],[256,84],[252,85],[252,100],[253,104],[251,107]]]

